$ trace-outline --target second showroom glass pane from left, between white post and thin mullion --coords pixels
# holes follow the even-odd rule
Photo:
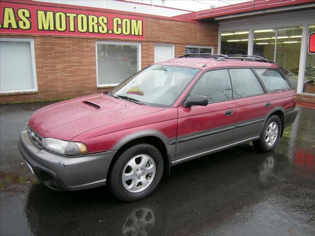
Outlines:
[[[253,53],[254,56],[260,56],[269,60],[275,57],[275,29],[254,30]]]

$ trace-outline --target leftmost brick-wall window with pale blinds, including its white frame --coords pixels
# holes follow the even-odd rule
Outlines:
[[[32,39],[0,39],[1,93],[37,90]]]

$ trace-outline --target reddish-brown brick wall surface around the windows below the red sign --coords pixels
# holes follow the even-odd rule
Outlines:
[[[1,94],[0,103],[77,97],[106,90],[96,88],[95,41],[100,38],[21,34],[0,37],[34,39],[38,87],[38,92]],[[186,45],[213,46],[217,53],[218,25],[146,18],[145,39],[133,41],[141,42],[144,68],[154,63],[155,43],[174,44],[175,57],[185,54]]]

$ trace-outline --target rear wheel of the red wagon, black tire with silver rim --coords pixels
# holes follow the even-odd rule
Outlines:
[[[274,149],[279,141],[282,126],[278,116],[271,116],[264,124],[260,138],[252,142],[254,148],[261,152]]]

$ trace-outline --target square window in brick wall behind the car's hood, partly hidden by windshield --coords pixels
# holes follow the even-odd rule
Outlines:
[[[140,43],[96,42],[97,86],[116,86],[140,70]]]

